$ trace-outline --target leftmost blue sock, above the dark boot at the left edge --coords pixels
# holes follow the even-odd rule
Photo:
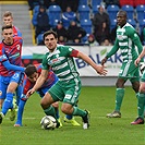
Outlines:
[[[13,101],[13,93],[7,93],[7,98],[4,99],[3,106],[2,106],[2,113],[5,116],[8,110],[12,107]]]

